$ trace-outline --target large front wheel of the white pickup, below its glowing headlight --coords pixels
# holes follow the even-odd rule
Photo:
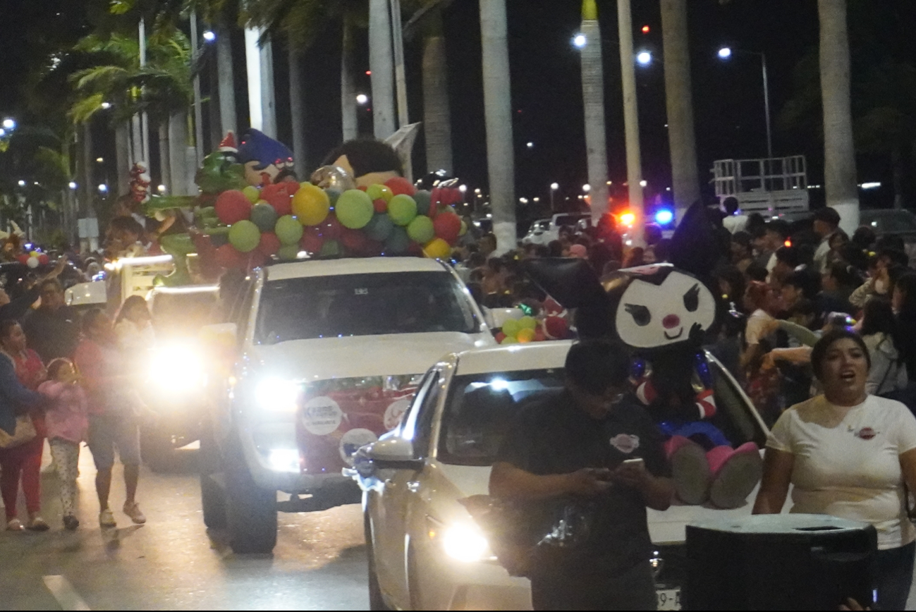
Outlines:
[[[266,553],[277,544],[277,491],[260,488],[241,457],[226,470],[226,519],[233,552]]]

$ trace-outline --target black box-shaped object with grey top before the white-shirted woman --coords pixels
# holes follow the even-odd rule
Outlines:
[[[878,532],[813,514],[769,514],[687,526],[685,610],[835,610],[872,604]]]

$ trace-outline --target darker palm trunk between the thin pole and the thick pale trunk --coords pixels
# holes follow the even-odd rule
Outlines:
[[[451,174],[452,108],[449,104],[448,61],[442,32],[442,9],[433,9],[423,38],[423,128],[426,136],[426,171]]]

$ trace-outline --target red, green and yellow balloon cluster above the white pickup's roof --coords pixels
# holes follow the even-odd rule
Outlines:
[[[345,190],[340,182],[325,189],[311,182],[279,182],[223,191],[213,208],[199,215],[223,268],[254,268],[269,257],[292,260],[302,252],[445,258],[467,231],[453,211],[453,199],[452,191],[416,191],[400,177]]]

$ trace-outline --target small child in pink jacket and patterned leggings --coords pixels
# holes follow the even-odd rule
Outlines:
[[[38,393],[50,399],[45,412],[51,457],[60,475],[60,501],[63,525],[68,530],[80,526],[76,518],[76,477],[79,474],[80,443],[89,429],[89,405],[79,385],[76,369],[69,359],[54,359],[48,364],[48,380]]]

